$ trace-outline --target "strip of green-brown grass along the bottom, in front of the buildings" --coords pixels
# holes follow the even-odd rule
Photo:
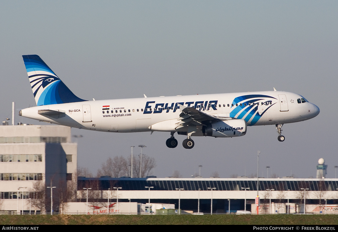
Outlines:
[[[338,215],[0,215],[0,225],[337,225]]]

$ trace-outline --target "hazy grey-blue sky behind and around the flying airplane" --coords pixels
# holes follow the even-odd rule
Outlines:
[[[244,137],[196,137],[195,147],[169,149],[169,133],[109,134],[72,129],[79,166],[93,173],[108,157],[144,144],[154,175],[209,177],[291,173],[315,177],[320,157],[338,165],[335,100],[337,1],[3,1],[0,8],[1,111],[16,122],[35,106],[22,55],[38,54],[82,99],[115,99],[277,90],[303,95],[320,108],[314,119],[271,126]],[[3,120],[2,119],[2,120]],[[1,135],[0,135],[1,136]],[[176,136],[181,143],[185,136]],[[134,154],[139,153],[134,149]]]

